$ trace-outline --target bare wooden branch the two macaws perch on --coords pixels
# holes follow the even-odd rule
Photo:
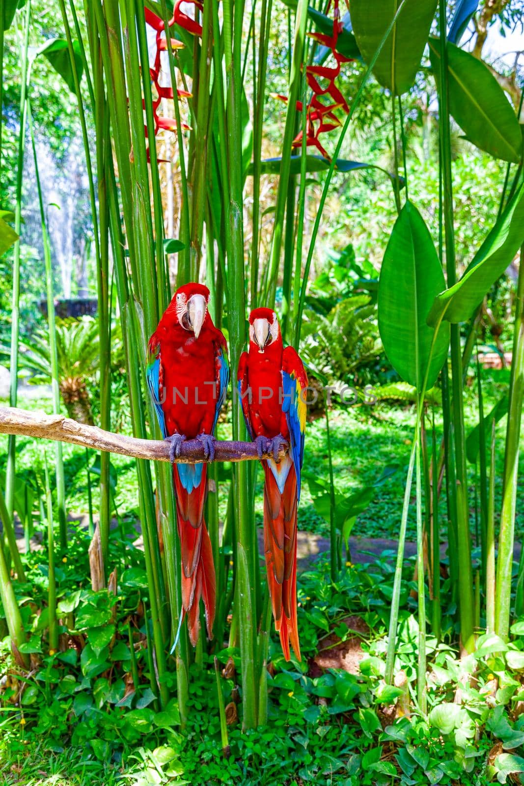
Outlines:
[[[97,426],[87,426],[72,421],[63,415],[45,415],[39,412],[17,410],[15,407],[0,407],[0,434],[20,434],[37,439],[52,439],[55,442],[67,442],[93,450],[104,450],[107,453],[119,453],[122,456],[169,461],[169,445],[156,439],[136,439],[122,434],[104,432]],[[286,451],[280,451],[284,458]],[[264,454],[264,458],[273,458],[273,454]],[[252,461],[258,459],[254,443],[226,442],[217,440],[214,446],[214,461]],[[193,464],[195,461],[206,461],[203,457],[203,445],[198,439],[188,439],[181,444],[181,455],[177,464]]]

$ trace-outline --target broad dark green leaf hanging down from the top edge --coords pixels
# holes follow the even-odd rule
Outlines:
[[[369,63],[397,13],[400,0],[351,0],[351,22],[362,57]],[[395,95],[405,93],[416,72],[430,34],[437,0],[405,0],[373,73]]]

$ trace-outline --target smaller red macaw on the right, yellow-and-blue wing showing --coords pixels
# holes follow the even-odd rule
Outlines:
[[[249,350],[240,356],[238,390],[247,432],[258,456],[273,451],[264,468],[264,549],[275,629],[284,658],[289,641],[300,660],[296,609],[297,505],[306,432],[307,376],[293,347],[285,347],[277,314],[255,308],[249,317]],[[289,454],[277,461],[282,446]]]

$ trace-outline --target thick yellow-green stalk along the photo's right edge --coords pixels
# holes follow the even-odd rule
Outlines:
[[[497,558],[497,598],[495,602],[495,630],[501,638],[509,635],[511,604],[511,564],[515,540],[517,479],[519,476],[519,440],[524,399],[524,247],[520,253],[519,280],[515,299],[515,328],[513,358],[509,390],[508,425],[504,454],[502,510],[500,512],[499,553]],[[519,585],[522,586],[519,570]]]

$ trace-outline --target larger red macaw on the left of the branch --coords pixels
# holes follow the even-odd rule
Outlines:
[[[213,324],[208,302],[209,289],[203,285],[179,288],[148,343],[148,387],[160,431],[170,443],[171,461],[180,455],[185,439],[199,439],[204,456],[214,459],[213,434],[229,384],[229,361],[227,343]],[[216,585],[203,520],[207,465],[174,464],[173,479],[181,542],[181,620],[187,613],[194,646],[200,630],[200,597],[207,634],[213,635]]]

